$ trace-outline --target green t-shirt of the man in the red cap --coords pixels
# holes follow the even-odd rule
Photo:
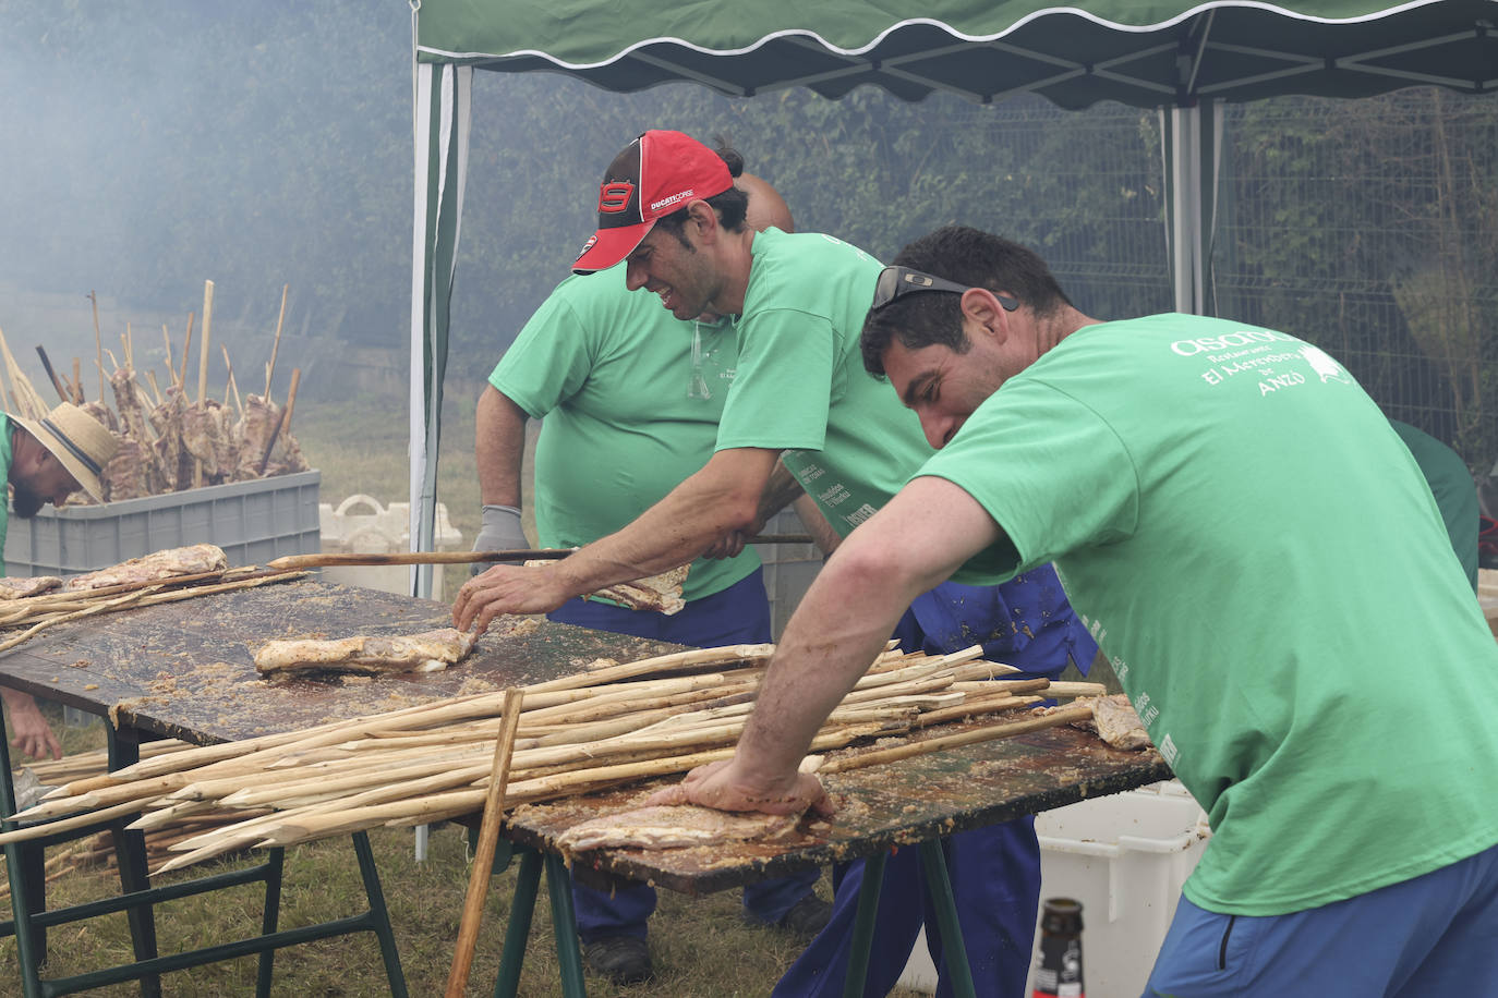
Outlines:
[[[882,265],[815,232],[765,229],[752,253],[718,449],[786,449],[785,465],[846,537],[930,455],[920,420],[858,353]]]

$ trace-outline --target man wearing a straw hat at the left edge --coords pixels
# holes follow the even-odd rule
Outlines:
[[[114,434],[70,402],[61,402],[40,420],[0,413],[0,462],[10,483],[10,509],[28,519],[46,503],[61,506],[79,489],[103,501],[99,474],[118,446]],[[9,512],[0,506],[0,549],[7,525]],[[0,688],[0,699],[10,708],[16,748],[34,759],[61,759],[63,748],[36,700],[9,688]]]

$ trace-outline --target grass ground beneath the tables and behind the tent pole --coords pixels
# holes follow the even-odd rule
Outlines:
[[[478,485],[473,479],[475,392],[451,392],[443,416],[437,494],[449,518],[469,542],[478,531]],[[403,405],[383,408],[363,402],[300,402],[295,432],[312,464],[322,471],[322,495],[337,503],[364,492],[382,503],[404,500],[406,413]],[[533,533],[532,533],[533,536]],[[451,567],[446,591],[455,593],[466,567]],[[61,712],[51,712],[54,729],[70,753],[103,744],[102,729],[64,727]],[[467,889],[466,835],[452,826],[433,829],[428,856],[413,857],[410,830],[379,829],[370,833],[395,940],[410,994],[439,995],[446,982],[457,926]],[[66,845],[58,847],[66,848]],[[201,872],[204,868],[199,868]],[[187,871],[184,875],[190,875]],[[168,875],[171,878],[171,875]],[[490,994],[514,890],[514,871],[494,877],[479,937],[469,994]],[[822,896],[830,896],[824,877]],[[51,907],[109,896],[118,881],[109,871],[79,871],[49,887]],[[288,850],[282,928],[343,917],[363,910],[363,889],[354,851],[346,838]],[[656,980],[637,988],[614,988],[589,979],[589,994],[664,995],[682,998],[739,998],[767,995],[800,952],[783,934],[746,926],[739,917],[737,892],[694,899],[661,892],[661,907],[650,922]],[[160,952],[171,953],[250,935],[259,925],[253,886],[165,904],[157,913]],[[548,931],[545,890],[538,899],[530,947],[520,994],[524,998],[560,995],[556,949]],[[124,916],[108,916],[51,931],[49,976],[82,973],[130,959]],[[168,997],[253,994],[255,959],[178,971],[163,979]],[[19,994],[13,940],[0,940],[0,995]],[[99,995],[136,995],[133,985],[102,989]],[[276,995],[345,998],[388,994],[379,950],[369,934],[291,947],[276,958]],[[896,991],[906,998],[915,992]]]

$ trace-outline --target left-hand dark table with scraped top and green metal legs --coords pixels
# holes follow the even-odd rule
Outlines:
[[[109,718],[109,766],[138,759],[141,741],[180,738],[211,744],[286,732],[340,717],[358,717],[458,693],[503,688],[572,672],[598,657],[647,657],[674,646],[619,634],[544,624],[533,633],[505,634],[499,627],[479,640],[475,655],[458,669],[366,681],[264,681],[253,649],[271,637],[398,634],[445,627],[451,610],[439,603],[322,582],[286,582],[126,610],[42,631],[0,654],[0,684]],[[514,622],[514,621],[511,621]],[[0,814],[15,812],[9,754],[0,726]],[[60,995],[123,980],[141,980],[145,995],[159,994],[162,973],[259,953],[258,994],[270,994],[271,955],[280,946],[315,938],[374,932],[380,943],[391,992],[406,994],[400,958],[385,911],[369,839],[354,836],[369,911],[292,931],[277,931],[282,850],[268,850],[267,863],[246,871],[205,877],[169,887],[150,887],[144,836],[126,832],[129,818],[40,842],[6,845],[13,922],[0,926],[16,935],[22,989],[28,997]],[[9,821],[6,829],[13,827]],[[120,847],[123,893],[117,898],[45,911],[42,845],[108,827]],[[264,881],[262,934],[250,940],[157,956],[153,905],[168,898],[225,886]],[[51,925],[126,911],[136,962],[70,979],[43,982],[45,931]]]

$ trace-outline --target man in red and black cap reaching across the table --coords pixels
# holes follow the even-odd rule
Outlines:
[[[458,627],[485,627],[496,613],[547,612],[604,585],[733,548],[797,485],[846,536],[930,455],[915,416],[863,371],[858,331],[879,262],[831,236],[745,226],[745,199],[725,157],[737,160],[679,132],[647,132],[631,142],[605,174],[599,230],[575,263],[592,272],[623,260],[629,287],[658,295],[677,319],[704,311],[737,317],[737,374],[716,452],[632,524],[578,554],[538,569],[497,566],[472,579],[454,606]],[[1002,588],[911,594],[906,606],[911,613],[899,628],[891,621],[885,637],[896,633],[908,651],[983,643],[990,657],[1050,678],[1068,658],[1091,666],[1095,652],[1049,567]],[[980,992],[1019,995],[1040,895],[1034,823],[953,835],[944,848]],[[887,866],[867,994],[894,986],[924,920],[917,860],[905,850]],[[861,866],[834,874],[833,922],[777,995],[842,992]],[[930,922],[927,941],[944,967]]]

